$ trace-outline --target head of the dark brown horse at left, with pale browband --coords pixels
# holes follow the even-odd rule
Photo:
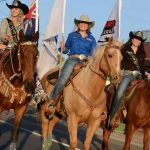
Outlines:
[[[35,88],[34,71],[38,56],[37,41],[39,33],[33,36],[25,36],[23,31],[19,32],[19,60],[23,76],[23,83],[27,93],[33,93]]]

